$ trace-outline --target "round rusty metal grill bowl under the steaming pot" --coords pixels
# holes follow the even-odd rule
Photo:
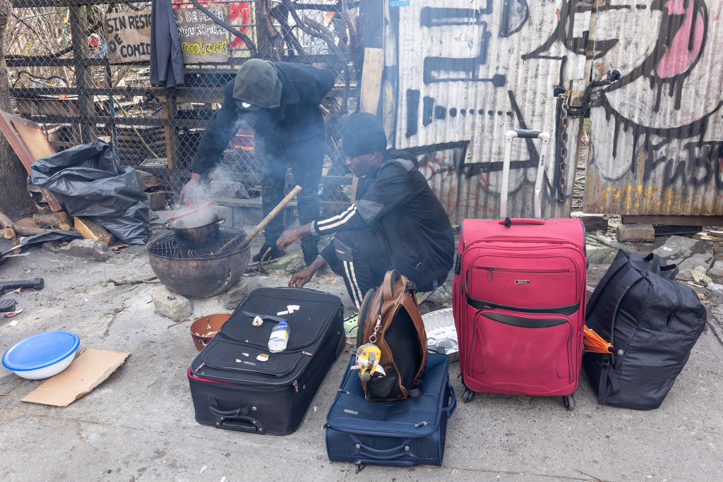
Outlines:
[[[234,240],[236,236],[239,238]],[[161,283],[179,295],[218,295],[238,283],[249,265],[249,245],[244,244],[244,237],[239,229],[221,228],[221,236],[213,245],[185,249],[168,234],[147,245],[150,267]]]

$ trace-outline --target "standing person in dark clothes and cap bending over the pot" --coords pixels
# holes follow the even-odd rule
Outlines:
[[[196,155],[189,166],[191,179],[181,190],[181,202],[199,194],[202,176],[207,176],[223,155],[241,123],[254,129],[254,153],[260,161],[263,215],[283,199],[286,168],[291,165],[294,181],[301,186],[297,209],[300,223],[319,216],[319,181],[324,162],[324,118],[319,104],[334,86],[327,69],[288,62],[249,59],[241,64],[236,79],[223,87],[223,104],[206,126]],[[279,257],[276,239],[283,219],[276,217],[264,230],[265,243],[254,261],[270,249],[266,260]],[[319,236],[301,241],[304,261],[313,262]]]

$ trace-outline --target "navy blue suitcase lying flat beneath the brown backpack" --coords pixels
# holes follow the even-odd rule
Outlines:
[[[355,356],[326,417],[326,450],[333,462],[442,465],[448,418],[457,406],[449,382],[449,357],[427,356],[421,395],[398,402],[364,398]]]

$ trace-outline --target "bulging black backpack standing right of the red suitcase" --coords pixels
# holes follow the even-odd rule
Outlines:
[[[595,288],[586,325],[613,353],[586,352],[583,367],[601,405],[658,408],[706,324],[706,309],[675,264],[620,250]]]

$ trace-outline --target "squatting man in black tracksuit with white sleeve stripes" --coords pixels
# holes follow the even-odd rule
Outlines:
[[[343,277],[356,307],[371,288],[395,269],[432,291],[452,268],[452,226],[441,203],[408,152],[387,150],[384,129],[375,116],[350,116],[342,131],[346,165],[359,177],[356,202],[341,214],[287,229],[276,241],[286,250],[306,236],[334,233],[330,244],[289,286],[301,287],[329,264]]]

